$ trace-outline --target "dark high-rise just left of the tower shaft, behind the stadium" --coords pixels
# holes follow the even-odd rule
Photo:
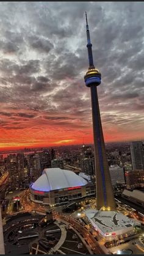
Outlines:
[[[81,169],[84,174],[94,175],[95,173],[95,159],[94,158],[83,158],[81,160]]]

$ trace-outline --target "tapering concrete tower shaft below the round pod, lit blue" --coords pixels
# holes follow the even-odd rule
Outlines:
[[[99,112],[97,87],[92,85],[90,90],[92,100],[93,140],[95,149],[96,208],[99,210],[101,207],[110,207],[110,209],[115,210],[115,199],[113,196],[113,188],[110,179],[109,166],[107,163],[101,116]]]

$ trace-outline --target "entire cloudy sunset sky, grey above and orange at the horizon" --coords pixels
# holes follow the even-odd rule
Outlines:
[[[144,2],[0,2],[0,149],[93,143],[85,10],[106,142],[144,139]]]

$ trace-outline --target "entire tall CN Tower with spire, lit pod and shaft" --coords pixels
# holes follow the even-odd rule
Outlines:
[[[107,163],[106,148],[104,144],[103,129],[101,125],[101,115],[99,112],[97,86],[101,84],[101,73],[93,65],[92,43],[90,42],[90,32],[88,29],[87,13],[87,50],[89,68],[84,76],[85,85],[90,87],[92,101],[93,118],[93,140],[95,149],[95,169],[96,169],[96,197],[97,210],[115,210],[115,198],[113,196],[112,182],[110,180],[109,166]]]

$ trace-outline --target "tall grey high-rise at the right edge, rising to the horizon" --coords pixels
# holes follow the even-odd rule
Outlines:
[[[144,150],[142,141],[131,142],[131,159],[133,170],[144,170]]]

